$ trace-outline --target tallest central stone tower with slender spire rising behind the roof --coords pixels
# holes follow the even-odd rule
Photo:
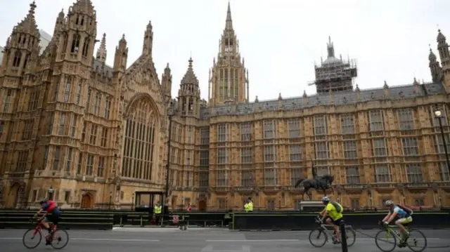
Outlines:
[[[214,58],[208,86],[210,105],[228,102],[248,102],[248,70],[240,60],[239,41],[233,29],[230,3],[226,11],[226,25],[219,41],[217,62]]]

